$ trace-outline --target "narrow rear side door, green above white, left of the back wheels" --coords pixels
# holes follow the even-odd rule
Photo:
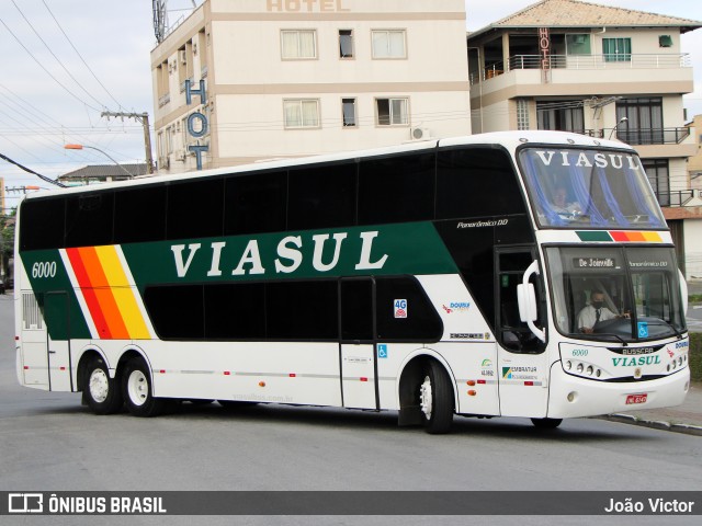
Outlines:
[[[44,295],[44,319],[52,322],[50,332],[46,331],[49,390],[72,391],[68,312],[68,294]]]

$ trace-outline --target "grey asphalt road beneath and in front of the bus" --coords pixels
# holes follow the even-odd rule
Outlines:
[[[77,393],[23,388],[10,296],[0,297],[0,491],[701,491],[702,439],[592,419],[455,419],[450,435],[396,414],[183,404],[97,416]],[[362,503],[359,503],[362,506]],[[700,503],[702,505],[702,503]],[[14,521],[4,521],[5,518]],[[697,524],[694,517],[2,517],[3,524]],[[699,519],[699,517],[698,517]]]

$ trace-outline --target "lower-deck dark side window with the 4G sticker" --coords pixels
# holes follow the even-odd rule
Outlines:
[[[375,309],[378,340],[438,342],[441,339],[441,318],[412,277],[378,278]]]

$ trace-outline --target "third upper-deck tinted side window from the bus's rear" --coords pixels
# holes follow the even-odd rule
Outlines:
[[[115,243],[161,241],[165,238],[166,186],[136,186],[115,192]]]

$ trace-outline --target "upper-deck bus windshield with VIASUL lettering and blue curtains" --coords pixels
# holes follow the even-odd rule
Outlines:
[[[631,151],[525,148],[519,159],[541,227],[666,228]]]

